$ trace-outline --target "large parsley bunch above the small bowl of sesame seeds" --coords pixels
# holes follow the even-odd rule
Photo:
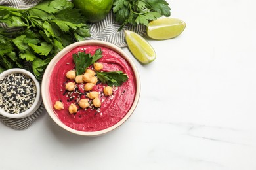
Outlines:
[[[28,65],[39,80],[60,50],[90,36],[85,17],[67,0],[43,1],[31,9],[0,6],[0,22],[7,25],[0,27],[0,72]]]

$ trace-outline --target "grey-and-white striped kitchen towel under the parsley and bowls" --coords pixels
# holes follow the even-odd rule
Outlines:
[[[28,9],[37,5],[37,3],[40,1],[41,0],[0,0],[0,5],[6,5],[18,9]],[[1,25],[0,23],[0,27],[1,26],[3,27],[4,25]],[[117,31],[120,26],[121,25],[115,23],[113,12],[110,12],[108,16],[104,18],[104,20],[94,24],[89,24],[91,37],[88,37],[87,39],[96,39],[110,42],[121,48],[127,46],[123,30],[128,29],[135,31],[136,33],[139,33],[139,35],[144,35],[146,33],[146,27],[142,25],[138,25],[137,27],[125,25],[122,31]],[[39,107],[35,113],[33,113],[31,116],[28,116],[27,118],[14,119],[0,116],[0,120],[3,122],[3,124],[12,127],[13,129],[26,129],[34,122],[36,118],[39,117],[43,110],[44,106],[42,103],[41,107]]]

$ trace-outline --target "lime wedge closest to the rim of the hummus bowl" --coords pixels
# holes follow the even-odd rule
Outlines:
[[[156,59],[156,52],[152,46],[139,34],[125,30],[125,41],[133,56],[140,63],[151,63]]]

